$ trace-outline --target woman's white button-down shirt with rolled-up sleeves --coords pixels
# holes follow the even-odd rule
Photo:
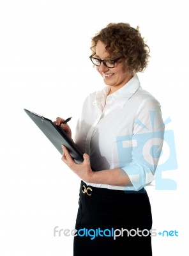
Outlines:
[[[138,191],[154,179],[160,157],[164,131],[160,104],[142,90],[137,75],[110,95],[109,90],[105,86],[84,101],[75,143],[89,154],[94,170],[121,168],[133,186],[87,185]]]

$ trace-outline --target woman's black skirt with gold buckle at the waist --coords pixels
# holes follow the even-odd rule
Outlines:
[[[80,184],[73,256],[151,256],[151,205],[146,190]]]

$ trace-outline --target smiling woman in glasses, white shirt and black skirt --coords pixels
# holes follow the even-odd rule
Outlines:
[[[161,144],[164,128],[159,102],[137,77],[147,67],[149,48],[138,28],[117,23],[92,38],[91,51],[106,86],[82,107],[75,143],[86,152],[83,163],[75,163],[64,146],[62,156],[81,179],[74,256],[152,255],[144,187],[154,179],[161,149],[153,139]],[[70,127],[61,126],[71,136]]]

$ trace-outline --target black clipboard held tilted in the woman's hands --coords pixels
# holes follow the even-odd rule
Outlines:
[[[70,137],[68,137],[66,132],[61,127],[55,125],[52,120],[45,118],[44,116],[38,115],[27,109],[24,109],[24,111],[31,118],[31,120],[33,120],[33,122],[40,128],[43,134],[47,136],[47,138],[61,154],[63,154],[63,148],[61,147],[61,145],[63,144],[66,148],[68,148],[68,151],[73,157],[75,163],[82,163],[82,161],[84,160],[83,153],[70,139]]]

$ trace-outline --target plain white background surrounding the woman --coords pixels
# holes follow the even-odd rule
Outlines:
[[[187,1],[1,0],[0,4],[0,254],[72,255],[73,237],[54,227],[75,226],[80,180],[24,113],[72,116],[103,88],[89,60],[91,37],[109,22],[139,25],[151,49],[142,88],[172,122],[178,169],[174,191],[147,188],[153,228],[179,237],[153,237],[153,255],[188,255],[188,7]],[[142,211],[142,209],[141,209]],[[187,247],[186,247],[187,246]]]

